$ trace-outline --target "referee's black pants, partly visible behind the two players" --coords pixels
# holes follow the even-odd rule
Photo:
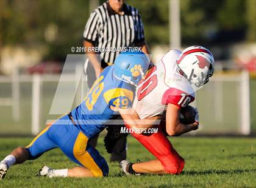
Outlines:
[[[107,63],[102,62],[101,67],[105,68],[107,67]],[[87,65],[87,83],[88,87],[91,88],[93,86],[93,82],[96,80],[95,72],[93,69],[93,65],[91,65],[90,62],[88,62]],[[121,116],[118,116],[118,119],[122,119]],[[120,129],[121,126],[124,125],[115,125],[113,126],[114,129]],[[99,135],[94,136],[94,138],[89,139],[89,144],[93,147],[96,147],[97,141],[98,141]],[[127,135],[123,134],[118,141],[116,142],[116,145],[113,148],[113,152],[110,156],[110,161],[122,161],[126,159],[126,143],[127,143]]]

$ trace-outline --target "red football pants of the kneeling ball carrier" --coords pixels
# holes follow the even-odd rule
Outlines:
[[[127,125],[126,127],[129,128]],[[166,172],[171,174],[179,174],[182,172],[185,161],[172,147],[171,142],[167,136],[163,134],[160,126],[158,126],[157,133],[148,135],[132,133],[132,136],[143,144],[143,146],[162,163],[163,169],[165,169]]]

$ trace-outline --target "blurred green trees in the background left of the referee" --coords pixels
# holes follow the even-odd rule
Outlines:
[[[3,0],[1,7],[0,39],[3,45],[46,45],[46,59],[62,60],[70,53],[72,45],[82,44],[88,1]],[[46,36],[49,27],[55,27],[52,40]]]

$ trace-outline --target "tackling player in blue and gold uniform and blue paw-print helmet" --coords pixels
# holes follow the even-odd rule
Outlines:
[[[51,169],[43,166],[39,175],[55,176],[106,176],[108,164],[88,139],[105,129],[104,123],[116,111],[129,109],[135,87],[148,70],[148,57],[142,52],[123,52],[115,64],[104,69],[96,79],[84,101],[70,113],[61,116],[42,130],[26,147],[17,147],[0,163],[0,179],[13,164],[37,159],[44,152],[59,147],[69,159],[80,165],[73,169]]]

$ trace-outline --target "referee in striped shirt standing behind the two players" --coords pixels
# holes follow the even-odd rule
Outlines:
[[[108,65],[113,64],[121,48],[137,47],[149,54],[140,13],[136,8],[124,3],[124,0],[109,0],[96,8],[90,15],[84,30],[84,47],[89,63],[87,70],[88,86]],[[88,49],[97,50],[88,50]],[[110,50],[112,49],[112,50]],[[119,129],[119,126],[113,126]],[[98,136],[90,144],[96,146]],[[126,159],[126,136],[118,139],[113,148],[110,161]]]

